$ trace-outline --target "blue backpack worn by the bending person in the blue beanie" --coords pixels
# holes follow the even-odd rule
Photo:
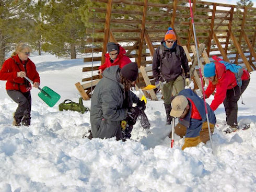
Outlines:
[[[223,61],[223,59],[217,57],[216,55],[213,55],[212,58],[215,61],[224,64],[227,70],[230,70],[232,73],[234,73],[235,76],[236,76],[237,85],[239,87],[242,86],[242,79],[241,79],[241,77],[242,77],[242,74],[243,74],[243,70],[242,70],[242,67],[240,65],[235,65],[235,64],[231,64],[231,63],[225,62],[225,61]]]

